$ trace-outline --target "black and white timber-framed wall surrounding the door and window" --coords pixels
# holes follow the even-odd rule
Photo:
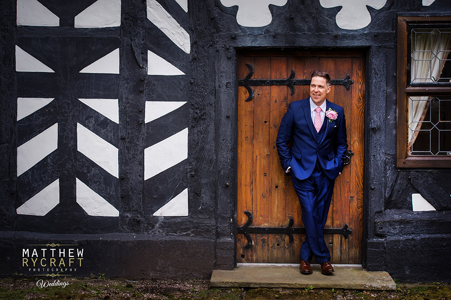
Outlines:
[[[1,275],[36,275],[23,249],[48,243],[84,249],[73,276],[234,268],[237,53],[358,49],[367,57],[362,264],[401,281],[451,281],[442,268],[451,171],[396,165],[398,16],[451,24],[451,3],[368,1],[358,9],[370,23],[349,29],[329,1],[268,2],[261,26],[245,26],[246,8],[225,0],[0,3]],[[111,11],[103,23],[96,3]],[[36,7],[48,23],[33,18]],[[413,211],[413,193],[436,210]]]

